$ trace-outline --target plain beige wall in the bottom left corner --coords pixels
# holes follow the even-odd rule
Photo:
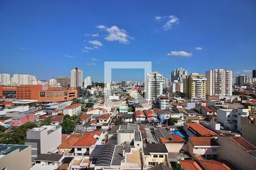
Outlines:
[[[22,151],[18,149],[0,158],[0,169],[27,170],[31,167],[31,146]]]

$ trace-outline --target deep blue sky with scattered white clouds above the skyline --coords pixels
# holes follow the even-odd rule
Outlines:
[[[103,82],[104,61],[151,61],[168,79],[177,67],[251,76],[256,1],[0,1],[0,73],[47,80],[79,67]],[[112,74],[144,79],[140,69]]]

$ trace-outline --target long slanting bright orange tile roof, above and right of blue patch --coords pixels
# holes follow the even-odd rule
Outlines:
[[[189,130],[191,130],[192,133],[194,133],[194,134],[198,133],[203,137],[218,135],[218,134],[214,133],[212,130],[204,128],[203,125],[200,125],[200,124],[197,124],[197,123],[185,123],[184,125],[187,126],[187,128]]]

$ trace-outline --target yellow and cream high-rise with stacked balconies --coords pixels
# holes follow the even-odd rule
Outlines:
[[[187,75],[185,79],[185,94],[189,100],[205,100],[206,99],[206,81],[205,75],[192,73]]]

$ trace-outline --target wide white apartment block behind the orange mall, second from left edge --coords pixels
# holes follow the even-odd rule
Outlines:
[[[32,84],[33,80],[36,79],[34,75],[28,74],[14,74],[11,78],[11,85],[12,86],[19,86],[23,84]]]

